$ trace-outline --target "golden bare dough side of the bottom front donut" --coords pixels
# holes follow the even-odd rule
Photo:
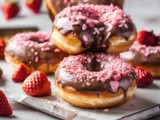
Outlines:
[[[82,108],[105,108],[113,107],[128,101],[134,96],[136,80],[133,81],[128,91],[119,88],[117,93],[104,91],[100,93],[77,91],[72,87],[62,87],[55,80],[55,86],[58,89],[58,95],[73,106]]]

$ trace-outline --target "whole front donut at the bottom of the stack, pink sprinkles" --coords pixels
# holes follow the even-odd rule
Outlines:
[[[82,108],[113,107],[134,96],[136,75],[125,60],[105,53],[63,59],[55,72],[58,95]]]

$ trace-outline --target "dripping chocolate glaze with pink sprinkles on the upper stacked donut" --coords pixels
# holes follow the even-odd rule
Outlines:
[[[117,14],[117,18],[111,13]],[[113,20],[110,18],[112,16]],[[106,50],[112,36],[124,37],[127,41],[136,31],[130,17],[112,5],[68,7],[56,16],[54,27],[64,35],[76,33],[83,47],[90,50]]]

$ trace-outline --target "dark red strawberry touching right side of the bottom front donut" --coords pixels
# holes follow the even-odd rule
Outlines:
[[[145,88],[150,86],[153,83],[153,76],[149,72],[144,70],[142,67],[136,66],[135,71],[138,79],[138,82],[137,82],[138,87]]]

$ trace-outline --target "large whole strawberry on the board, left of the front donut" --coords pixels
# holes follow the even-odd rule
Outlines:
[[[22,84],[23,91],[31,96],[51,95],[51,85],[44,72],[35,71]]]

